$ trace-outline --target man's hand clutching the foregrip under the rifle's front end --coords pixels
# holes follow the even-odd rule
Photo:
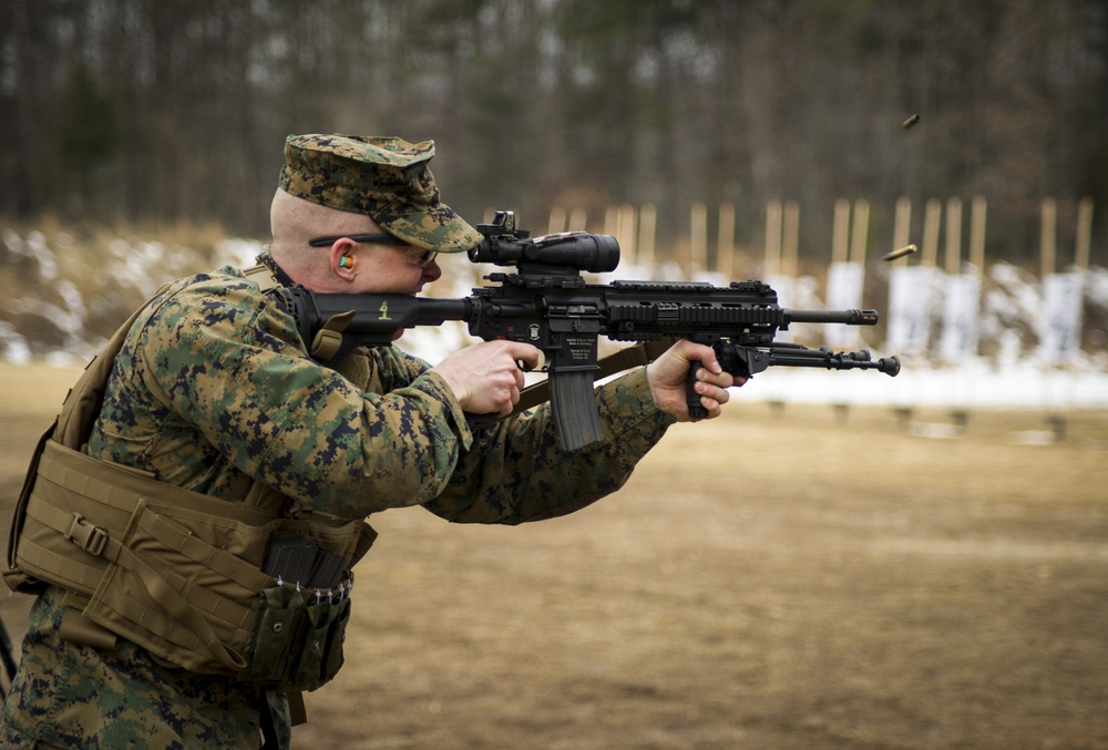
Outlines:
[[[728,388],[741,386],[747,381],[746,378],[732,378],[724,372],[711,347],[691,341],[678,341],[646,367],[646,380],[655,402],[678,422],[689,421],[688,404],[685,400],[685,378],[694,361],[704,364],[697,371],[696,392],[700,394],[700,404],[708,410],[708,419],[722,413],[724,404],[730,399]]]

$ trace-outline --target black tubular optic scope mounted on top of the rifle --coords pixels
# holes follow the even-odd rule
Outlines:
[[[479,227],[480,229],[480,227]],[[603,274],[619,265],[619,243],[611,235],[563,232],[534,239],[504,239],[485,235],[470,250],[473,263],[497,266],[547,266]]]

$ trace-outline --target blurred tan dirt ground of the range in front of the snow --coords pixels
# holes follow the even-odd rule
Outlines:
[[[0,366],[3,540],[72,379]],[[1108,748],[1108,413],[1045,417],[738,391],[575,515],[386,513],[294,747]]]

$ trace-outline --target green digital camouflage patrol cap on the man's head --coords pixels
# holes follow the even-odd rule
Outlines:
[[[279,186],[305,201],[366,214],[389,234],[424,250],[468,250],[482,237],[439,202],[427,166],[432,156],[433,141],[289,135]]]

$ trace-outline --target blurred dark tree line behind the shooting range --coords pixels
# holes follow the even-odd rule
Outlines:
[[[914,113],[921,122],[902,127]],[[514,208],[768,199],[824,257],[837,198],[984,195],[989,253],[1055,196],[1108,223],[1108,0],[4,0],[0,214],[218,222],[265,237],[289,133],[433,138],[444,199]],[[1066,261],[1066,257],[1059,257]]]

